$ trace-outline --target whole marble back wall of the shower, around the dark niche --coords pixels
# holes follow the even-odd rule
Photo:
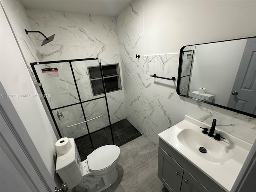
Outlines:
[[[46,36],[55,34],[52,42],[39,48],[39,51],[42,54],[42,61],[100,57],[102,65],[120,63],[116,18],[52,10],[26,10],[26,13],[30,25],[32,26],[32,30],[39,30]],[[36,44],[40,46],[43,37],[40,34],[34,35]],[[88,76],[87,66],[98,66],[98,63],[89,62],[89,65],[87,65],[82,64],[81,62],[74,62],[72,65],[82,100],[90,100],[104,96],[103,94],[92,96],[92,89]],[[68,79],[63,79],[62,77],[59,79],[57,78],[55,81],[55,85],[63,84],[63,86],[59,86],[59,88],[54,86],[55,89],[51,89],[52,92],[60,92],[58,91],[59,89],[61,89],[62,92],[62,98],[60,100],[51,102],[55,107],[63,106],[65,103],[69,104],[70,102],[77,102],[78,96],[76,89],[72,89],[71,84],[70,86],[67,86]],[[61,83],[58,83],[60,81]],[[111,123],[126,118],[124,90],[108,93],[107,99]],[[96,104],[100,106],[97,106]],[[96,100],[90,102],[90,104],[85,104],[85,106],[84,110],[88,112],[90,116],[104,113],[104,117],[98,121],[103,122],[102,125],[104,124],[104,126],[109,124],[104,102]],[[72,114],[72,119],[64,120],[65,123],[68,121],[69,124],[80,122],[81,114],[78,113],[76,115],[72,110],[73,109],[68,110],[65,108],[66,113],[68,112],[69,114]],[[62,124],[62,122],[59,123]],[[96,124],[97,123],[94,123],[94,125],[91,124],[89,126],[90,131],[99,128],[99,123]],[[101,126],[100,128],[104,126]],[[82,134],[85,133],[87,133],[87,130],[82,126],[73,127],[66,131],[68,137],[72,136],[74,138],[82,136]]]

